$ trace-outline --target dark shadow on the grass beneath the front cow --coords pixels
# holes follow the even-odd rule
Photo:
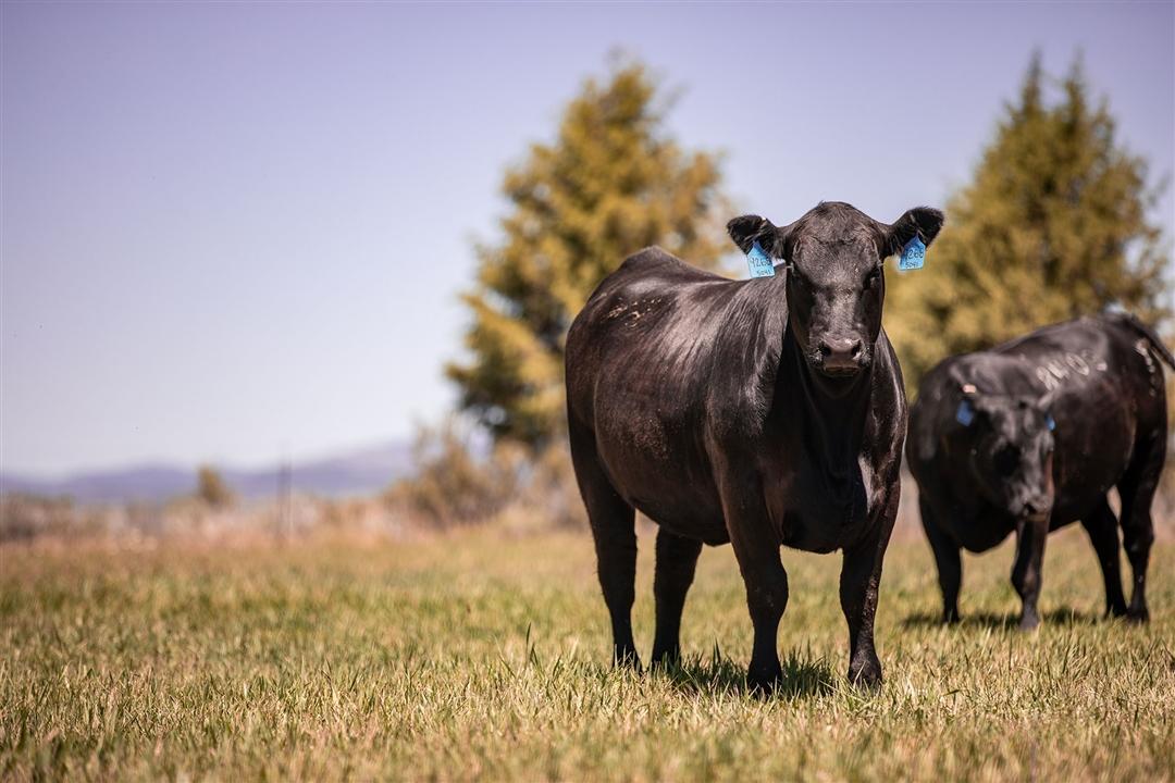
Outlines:
[[[783,676],[768,698],[797,700],[820,696],[833,690],[837,675],[824,659],[813,660],[794,650],[780,661]],[[746,683],[746,666],[723,657],[716,648],[710,661],[700,656],[678,663],[657,666],[656,676],[667,677],[674,688],[690,694],[759,695]]]

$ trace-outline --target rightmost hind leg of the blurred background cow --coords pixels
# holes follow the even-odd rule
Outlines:
[[[1122,498],[1122,544],[1134,576],[1126,616],[1135,622],[1146,622],[1150,619],[1147,609],[1147,563],[1150,559],[1150,545],[1155,540],[1150,502],[1155,498],[1159,477],[1167,457],[1166,424],[1164,418],[1163,426],[1156,428],[1149,439],[1139,443],[1134,450],[1134,458],[1117,485],[1119,495]]]

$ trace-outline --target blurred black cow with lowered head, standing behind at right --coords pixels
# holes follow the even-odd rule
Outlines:
[[[944,620],[959,619],[959,549],[983,552],[1016,533],[1012,583],[1021,628],[1040,622],[1049,531],[1081,520],[1106,579],[1107,614],[1146,621],[1150,501],[1167,455],[1160,362],[1175,359],[1133,316],[1080,318],[941,362],[911,412],[906,458],[934,549]],[[1116,486],[1134,571],[1127,606],[1119,572]]]

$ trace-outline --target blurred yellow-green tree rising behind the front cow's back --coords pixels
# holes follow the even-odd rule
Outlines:
[[[571,319],[626,256],[660,244],[714,266],[724,250],[718,160],[665,131],[665,102],[638,63],[589,80],[553,143],[536,143],[503,182],[499,244],[476,248],[463,296],[469,358],[445,369],[461,407],[495,439],[540,447],[563,427],[563,347]]]

